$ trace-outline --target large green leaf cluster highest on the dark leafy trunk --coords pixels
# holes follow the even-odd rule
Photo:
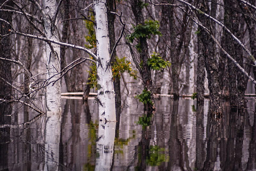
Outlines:
[[[137,26],[133,26],[133,33],[127,36],[128,41],[133,43],[134,39],[140,39],[140,37],[146,37],[150,39],[151,36],[154,35],[162,35],[160,31],[158,31],[159,22],[153,20],[146,20],[145,25],[142,26],[141,24]]]

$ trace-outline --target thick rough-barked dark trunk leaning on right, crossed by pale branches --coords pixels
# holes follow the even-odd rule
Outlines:
[[[209,6],[206,1],[197,0],[196,6],[201,11],[209,13]],[[206,18],[203,14],[197,13],[197,17],[200,22],[209,30],[211,30],[210,19]],[[218,65],[214,52],[214,41],[210,35],[200,27],[200,38],[204,45],[203,55],[204,63],[207,71],[208,87],[210,92],[210,111],[212,115],[222,114],[221,107],[221,90],[220,90],[220,78],[218,75]]]

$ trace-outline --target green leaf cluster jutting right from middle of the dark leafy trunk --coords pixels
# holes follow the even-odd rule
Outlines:
[[[171,63],[169,61],[164,61],[160,54],[156,52],[151,55],[151,58],[148,58],[147,63],[152,70],[161,70],[166,68],[167,66],[171,66]]]

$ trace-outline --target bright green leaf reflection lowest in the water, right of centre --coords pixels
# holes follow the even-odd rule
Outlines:
[[[150,166],[160,166],[162,162],[168,162],[169,156],[165,156],[164,148],[159,146],[149,146],[149,156],[146,159],[146,163]]]

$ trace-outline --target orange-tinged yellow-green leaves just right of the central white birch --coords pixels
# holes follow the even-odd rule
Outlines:
[[[131,77],[137,79],[137,71],[133,70],[131,67],[131,62],[126,60],[125,57],[118,58],[116,57],[116,62],[112,64],[112,74],[114,79],[120,78],[120,73],[128,72]]]

